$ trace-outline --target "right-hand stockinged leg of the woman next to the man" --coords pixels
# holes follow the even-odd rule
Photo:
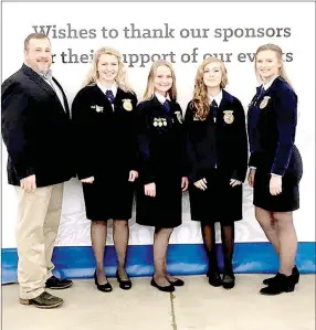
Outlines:
[[[117,255],[118,263],[118,276],[123,280],[128,280],[125,272],[126,253],[129,238],[128,221],[126,220],[114,220],[113,221],[113,241]]]

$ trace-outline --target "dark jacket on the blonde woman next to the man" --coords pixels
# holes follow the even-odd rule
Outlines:
[[[134,93],[117,88],[114,109],[97,85],[82,88],[72,104],[78,179],[128,178],[138,170]],[[108,177],[109,178],[109,177]]]

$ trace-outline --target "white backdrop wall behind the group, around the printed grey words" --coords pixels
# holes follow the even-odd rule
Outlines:
[[[180,13],[181,8],[181,13]],[[301,183],[301,209],[295,212],[295,224],[299,241],[315,241],[315,4],[314,3],[2,3],[2,77],[6,79],[20,68],[23,61],[24,38],[34,32],[33,25],[56,25],[56,29],[95,29],[94,39],[56,39],[52,41],[55,64],[54,75],[62,83],[70,103],[88,70],[88,64],[62,63],[61,53],[72,49],[73,53],[89,54],[103,45],[118,49],[122,53],[149,54],[175,53],[173,64],[179,103],[183,110],[190,100],[196,70],[206,53],[232,53],[227,63],[229,72],[228,91],[245,107],[255,92],[253,63],[238,61],[240,53],[254,53],[264,43],[278,44],[284,53],[293,53],[293,61],[286,62],[287,74],[299,99],[299,121],[296,145],[304,161],[304,177]],[[134,23],[138,29],[175,29],[173,39],[126,39],[123,29]],[[116,29],[116,39],[104,39],[102,28]],[[260,28],[272,33],[277,28],[281,36],[263,38],[215,38],[215,29]],[[271,28],[270,30],[267,30]],[[180,38],[182,29],[209,29],[208,38]],[[284,32],[285,31],[285,32]],[[182,30],[183,32],[183,30]],[[52,31],[51,31],[52,33]],[[242,30],[236,31],[238,35]],[[284,34],[285,33],[285,34]],[[182,63],[183,53],[197,47],[197,63]],[[144,55],[146,57],[146,55]],[[240,55],[241,56],[241,55]],[[134,55],[135,57],[135,55]],[[128,57],[129,58],[129,57]],[[286,56],[284,57],[286,61]],[[141,97],[149,65],[136,63],[128,68],[129,81],[138,98]],[[2,146],[3,147],[3,146]],[[7,184],[7,152],[2,149],[2,231],[3,247],[14,247],[14,224],[17,202],[14,190]],[[81,185],[72,180],[65,185],[64,204],[59,245],[89,245],[89,222],[85,210]],[[152,230],[130,221],[130,244],[151,243]],[[108,242],[112,242],[110,231]],[[219,237],[218,237],[219,238]],[[244,185],[244,220],[236,225],[238,242],[260,242],[265,237],[257,225],[252,206],[252,189]],[[171,243],[200,243],[200,230],[190,221],[188,196],[183,199],[183,224],[172,235]]]

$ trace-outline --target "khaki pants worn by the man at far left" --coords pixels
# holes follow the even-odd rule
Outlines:
[[[61,220],[63,183],[38,188],[33,193],[17,187],[17,192],[20,298],[32,299],[44,291],[54,268],[51,258]]]

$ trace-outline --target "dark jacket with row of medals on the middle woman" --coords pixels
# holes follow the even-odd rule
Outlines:
[[[143,184],[187,177],[182,110],[175,100],[167,111],[156,96],[137,106],[139,180]]]

